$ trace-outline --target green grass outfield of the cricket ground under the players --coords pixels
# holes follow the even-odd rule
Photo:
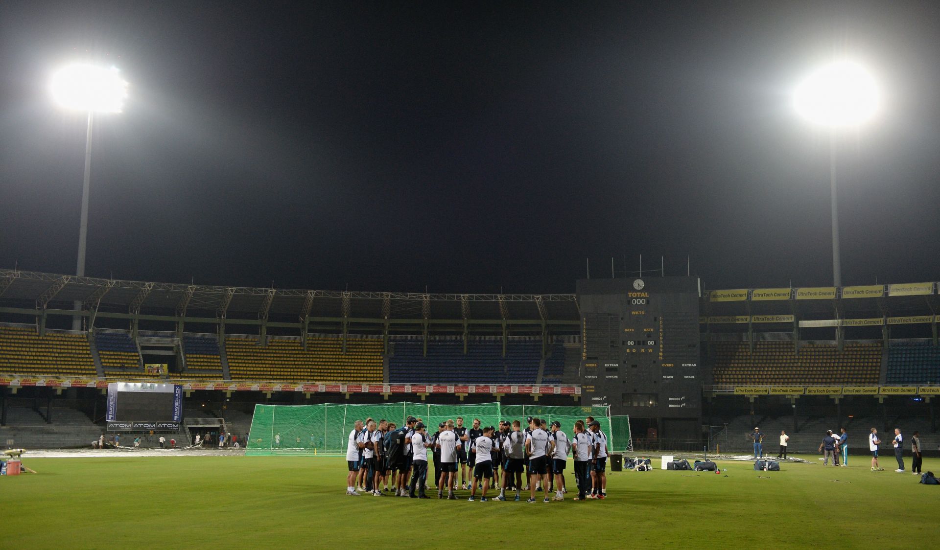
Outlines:
[[[895,473],[893,457],[882,460],[883,472],[851,457],[847,468],[756,472],[729,462],[719,464],[720,475],[608,473],[606,500],[573,502],[569,493],[549,504],[467,502],[465,491],[458,501],[348,496],[341,458],[25,464],[39,474],[0,477],[0,548],[460,548],[475,533],[513,548],[926,548],[940,533],[940,486]],[[571,490],[572,474],[568,482]]]

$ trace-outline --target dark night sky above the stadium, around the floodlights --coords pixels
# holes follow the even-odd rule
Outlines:
[[[831,284],[828,141],[789,89],[884,88],[842,137],[844,284],[940,275],[937,2],[0,3],[0,266],[73,273],[85,118],[113,63],[88,275],[569,292],[610,257],[708,288]]]

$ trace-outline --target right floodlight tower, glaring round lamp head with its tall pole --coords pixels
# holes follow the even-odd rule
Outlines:
[[[832,190],[832,275],[842,286],[838,252],[838,201],[836,150],[838,134],[870,121],[878,113],[881,98],[870,72],[845,59],[830,62],[810,72],[793,89],[793,106],[810,123],[829,131],[829,186]]]

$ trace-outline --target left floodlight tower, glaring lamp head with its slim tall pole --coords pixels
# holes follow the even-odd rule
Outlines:
[[[88,184],[91,178],[91,128],[95,113],[120,113],[127,98],[127,83],[114,67],[75,63],[55,71],[51,83],[53,99],[67,109],[86,112],[85,181],[82,185],[82,223],[78,230],[78,262],[75,275],[85,275],[85,248],[88,232]],[[75,311],[82,310],[76,300]],[[71,318],[71,329],[82,330],[82,317]]]

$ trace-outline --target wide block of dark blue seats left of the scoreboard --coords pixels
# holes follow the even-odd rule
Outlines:
[[[540,340],[510,340],[503,357],[501,340],[429,341],[428,355],[416,340],[394,342],[388,374],[392,384],[535,384],[541,362]],[[562,364],[564,357],[562,355]]]

